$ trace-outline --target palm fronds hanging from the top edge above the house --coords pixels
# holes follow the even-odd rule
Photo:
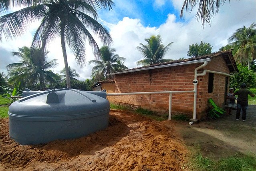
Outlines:
[[[184,0],[183,6],[180,11],[180,17],[183,18],[183,10],[186,11],[190,8],[192,9],[198,4],[198,12],[196,13],[197,21],[201,19],[203,26],[208,23],[211,25],[211,18],[213,15],[217,14],[220,6],[223,5],[226,0]],[[230,2],[230,0],[229,0]]]

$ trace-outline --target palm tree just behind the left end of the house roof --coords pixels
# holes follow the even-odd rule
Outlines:
[[[118,61],[125,61],[125,58],[115,54],[116,49],[109,46],[103,46],[100,49],[100,60],[89,61],[89,64],[93,63],[96,66],[93,67],[92,73],[99,71],[103,76],[116,72],[117,68],[127,68],[123,64],[118,64]]]

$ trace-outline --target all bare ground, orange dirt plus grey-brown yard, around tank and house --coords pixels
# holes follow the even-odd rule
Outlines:
[[[256,153],[256,106],[247,121],[222,116],[189,125],[153,121],[130,111],[112,110],[109,127],[71,140],[20,145],[9,138],[8,119],[0,119],[0,170],[179,171],[189,170],[190,147],[214,159]]]

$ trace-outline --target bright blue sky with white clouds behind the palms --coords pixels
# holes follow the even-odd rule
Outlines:
[[[173,42],[170,50],[165,55],[165,59],[187,57],[190,44],[203,42],[210,43],[216,52],[220,47],[228,44],[228,37],[242,26],[250,26],[256,22],[256,0],[232,0],[220,6],[220,11],[212,18],[212,25],[202,27],[202,23],[194,18],[197,8],[191,14],[184,13],[184,19],[179,18],[179,12],[183,5],[183,0],[113,0],[115,6],[113,10],[98,12],[98,21],[109,30],[113,39],[112,48],[116,48],[119,56],[126,58],[125,66],[136,68],[136,62],[142,60],[141,54],[136,47],[139,43],[146,44],[145,38],[160,34],[163,44]],[[19,61],[13,57],[11,52],[17,52],[22,46],[30,46],[34,30],[39,22],[31,24],[23,36],[15,40],[3,40],[0,42],[0,72],[6,72],[6,65]],[[99,47],[103,44],[97,36],[94,36]],[[54,68],[54,72],[60,73],[64,68],[64,60],[60,46],[60,39],[56,38],[47,48],[50,52],[48,60],[57,59],[59,65]],[[80,68],[73,54],[67,50],[68,63],[71,68],[80,74],[80,80],[90,78],[93,64],[88,64],[89,60],[94,60],[91,47],[86,43],[87,65]]]

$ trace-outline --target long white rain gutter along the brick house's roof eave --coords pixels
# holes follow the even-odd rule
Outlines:
[[[210,60],[211,60],[210,58],[206,58],[206,59],[201,59],[201,60],[194,60],[194,61],[187,61],[187,62],[178,62],[178,63],[175,63],[175,64],[166,64],[166,65],[152,66],[152,67],[147,67],[147,68],[138,68],[138,69],[134,69],[134,70],[128,70],[128,71],[123,71],[123,72],[116,72],[116,73],[107,74],[107,75],[108,76],[112,76],[112,75],[117,75],[117,74],[124,74],[124,73],[144,71],[144,70],[152,70],[152,69],[165,68],[165,67],[171,67],[171,66],[182,66],[182,65],[188,65],[188,64],[198,64],[198,63],[202,63],[202,62],[210,61]]]

